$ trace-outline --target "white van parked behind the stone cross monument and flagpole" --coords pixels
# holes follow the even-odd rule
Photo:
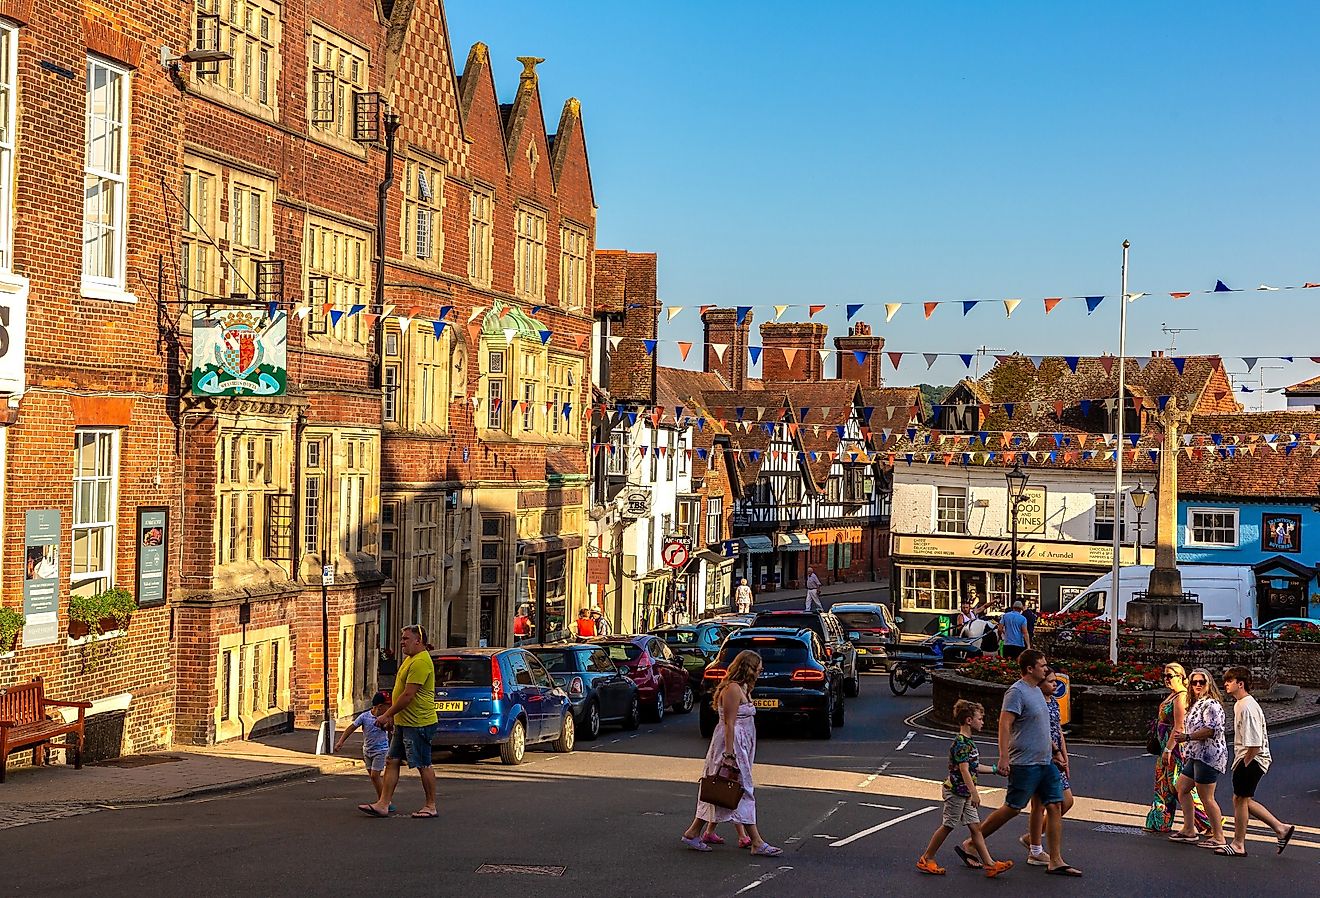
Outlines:
[[[1255,618],[1255,572],[1245,564],[1181,564],[1183,592],[1196,593],[1205,606],[1205,622],[1242,626],[1246,618]],[[1151,565],[1134,564],[1118,569],[1119,618],[1127,617],[1127,602],[1133,593],[1143,593],[1150,586]],[[1113,573],[1086,586],[1080,596],[1069,600],[1060,613],[1100,611],[1101,619],[1109,619],[1109,592],[1114,581]]]

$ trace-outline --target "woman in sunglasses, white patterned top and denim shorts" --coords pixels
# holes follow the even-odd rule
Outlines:
[[[1183,771],[1177,778],[1177,800],[1183,806],[1183,828],[1170,836],[1171,841],[1196,844],[1199,837],[1193,829],[1196,812],[1192,804],[1192,790],[1205,806],[1210,819],[1210,837],[1201,841],[1203,848],[1224,846],[1224,817],[1220,806],[1214,803],[1214,782],[1228,770],[1229,746],[1224,741],[1224,699],[1214,677],[1204,667],[1192,671],[1188,680],[1192,687],[1184,718],[1185,732],[1175,738],[1183,745]]]

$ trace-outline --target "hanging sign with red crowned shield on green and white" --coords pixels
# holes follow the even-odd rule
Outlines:
[[[281,396],[289,317],[251,309],[193,316],[194,396]]]

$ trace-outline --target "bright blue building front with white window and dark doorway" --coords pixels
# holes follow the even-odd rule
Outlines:
[[[1255,621],[1320,618],[1320,499],[1232,502],[1180,499],[1177,560],[1249,564],[1257,576]]]

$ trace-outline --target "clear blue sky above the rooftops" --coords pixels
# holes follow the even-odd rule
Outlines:
[[[1315,4],[446,9],[459,61],[490,45],[502,100],[517,55],[546,58],[552,127],[565,98],[582,100],[598,244],[657,252],[665,305],[866,302],[858,320],[887,350],[1072,355],[1117,351],[1125,238],[1133,292],[1320,281]],[[1109,298],[1047,318],[1040,298],[1057,294]],[[999,304],[929,321],[916,305],[886,325],[882,305],[1005,297],[1024,298],[1011,321]],[[1179,354],[1222,354],[1230,372],[1242,355],[1302,357],[1261,362],[1253,386],[1320,371],[1305,362],[1320,357],[1320,289],[1129,308],[1130,354],[1167,349],[1167,322],[1199,329]],[[833,337],[843,317],[817,320]],[[696,312],[661,318],[660,337],[700,341]],[[913,357],[887,380],[964,374]]]

